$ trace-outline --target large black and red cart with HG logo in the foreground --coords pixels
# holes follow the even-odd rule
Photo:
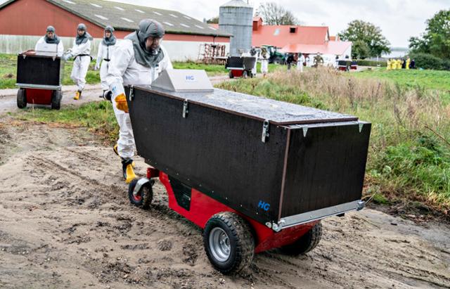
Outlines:
[[[221,89],[170,91],[158,83],[167,73],[127,89],[136,148],[151,166],[129,199],[148,207],[159,178],[169,207],[204,229],[216,269],[240,271],[272,248],[309,252],[321,219],[364,207],[370,123]]]

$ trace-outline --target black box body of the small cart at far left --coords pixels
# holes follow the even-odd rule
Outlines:
[[[60,86],[63,77],[61,58],[20,53],[17,58],[17,83],[31,86]]]

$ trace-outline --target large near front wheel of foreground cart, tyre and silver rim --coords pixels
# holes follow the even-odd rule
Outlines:
[[[203,232],[203,245],[211,264],[223,274],[233,274],[249,266],[255,255],[250,226],[232,212],[214,214]]]

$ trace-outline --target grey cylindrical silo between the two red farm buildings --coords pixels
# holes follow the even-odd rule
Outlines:
[[[253,6],[242,0],[232,0],[219,8],[219,29],[233,34],[230,55],[250,51],[252,46]]]

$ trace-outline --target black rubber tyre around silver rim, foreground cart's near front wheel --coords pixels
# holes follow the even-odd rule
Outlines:
[[[217,260],[210,251],[210,233],[219,227],[228,235],[231,245],[230,257],[225,262]],[[255,240],[250,225],[238,214],[221,212],[214,214],[203,231],[203,245],[212,266],[222,274],[236,274],[250,266],[255,255]]]

